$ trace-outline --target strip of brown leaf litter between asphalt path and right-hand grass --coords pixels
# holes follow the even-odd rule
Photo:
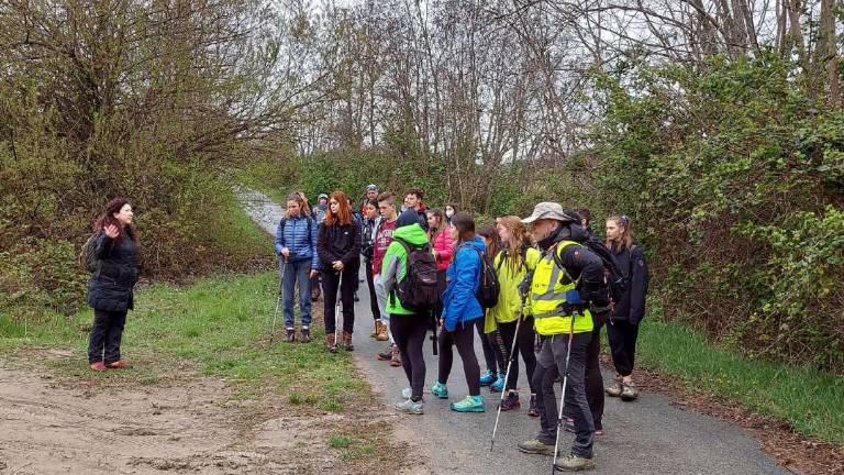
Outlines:
[[[602,356],[603,364],[612,367],[608,355]],[[748,430],[760,442],[762,450],[790,472],[806,475],[844,474],[844,446],[812,440],[795,431],[788,422],[689,391],[671,377],[657,372],[636,369],[636,386],[640,389],[665,395],[675,406],[690,408]]]

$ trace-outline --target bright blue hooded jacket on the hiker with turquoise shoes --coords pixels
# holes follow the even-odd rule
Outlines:
[[[484,317],[484,309],[475,297],[481,272],[478,251],[486,252],[480,236],[460,243],[446,270],[448,284],[443,294],[443,328],[446,331],[454,331],[458,323],[465,324]]]

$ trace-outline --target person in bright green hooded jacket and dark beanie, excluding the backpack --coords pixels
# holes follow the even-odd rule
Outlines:
[[[401,366],[408,377],[410,388],[402,396],[406,400],[396,404],[396,409],[411,415],[423,413],[422,390],[425,387],[425,360],[422,345],[429,328],[429,313],[418,314],[401,306],[395,289],[404,279],[408,272],[408,252],[402,245],[423,247],[427,245],[427,234],[419,224],[417,211],[403,211],[396,222],[392,242],[381,264],[381,283],[387,295],[387,313],[390,316],[390,332],[401,353]]]

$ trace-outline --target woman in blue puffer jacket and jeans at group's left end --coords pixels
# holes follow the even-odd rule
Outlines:
[[[311,340],[311,279],[320,268],[316,255],[316,223],[304,211],[307,205],[299,194],[287,197],[287,217],[278,223],[276,254],[281,278],[281,306],[285,314],[287,342],[296,341],[293,327],[293,289],[299,281],[299,314],[302,319],[301,340]]]

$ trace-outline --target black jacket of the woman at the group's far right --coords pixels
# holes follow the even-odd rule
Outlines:
[[[626,320],[637,324],[645,318],[645,299],[647,298],[647,285],[651,276],[647,272],[647,262],[642,248],[633,245],[622,248],[613,245],[611,248],[621,265],[621,270],[626,276],[624,296],[615,302],[612,313],[613,320]]]

